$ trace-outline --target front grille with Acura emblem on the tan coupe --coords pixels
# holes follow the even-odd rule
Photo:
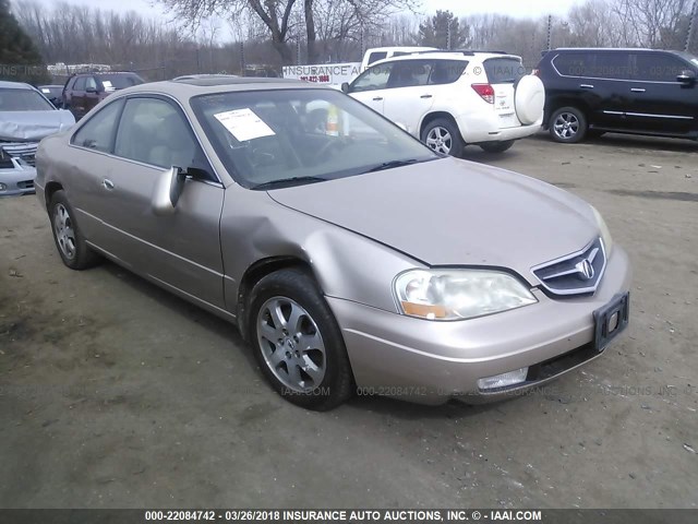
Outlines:
[[[593,294],[606,269],[606,251],[601,238],[581,251],[532,269],[543,288],[553,295]]]

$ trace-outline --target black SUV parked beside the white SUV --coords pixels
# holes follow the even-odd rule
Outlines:
[[[535,71],[557,142],[616,133],[698,139],[698,58],[653,49],[554,49]]]

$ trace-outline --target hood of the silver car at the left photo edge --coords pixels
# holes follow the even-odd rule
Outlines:
[[[13,142],[38,141],[64,131],[75,123],[70,111],[0,111],[0,140]]]

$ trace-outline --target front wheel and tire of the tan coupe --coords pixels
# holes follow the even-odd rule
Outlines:
[[[306,317],[300,315],[299,334],[304,331],[306,331],[304,336],[313,337],[314,334],[320,334],[324,354],[322,354],[322,358],[318,358],[321,354],[315,350],[313,357],[316,367],[324,369],[324,374],[318,383],[313,383],[311,376],[300,365],[294,364],[302,360],[303,357],[310,358],[311,356],[310,352],[300,349],[304,345],[302,338],[296,338],[293,333],[289,331],[279,334],[279,338],[274,341],[276,344],[265,337],[267,332],[262,329],[263,322],[268,330],[282,331],[282,326],[291,327],[288,324],[273,325],[275,322],[270,318],[268,305],[278,303],[275,302],[278,300],[294,302],[294,305],[287,305],[288,312],[282,312],[285,322],[291,319],[292,310],[290,308],[300,306],[306,312]],[[351,396],[353,376],[339,325],[315,281],[305,271],[288,269],[265,276],[252,288],[249,305],[248,333],[254,356],[262,372],[279,395],[292,404],[318,412],[332,409]],[[281,340],[281,336],[285,338]],[[276,338],[276,335],[273,337]],[[310,349],[311,346],[309,345],[308,348]],[[303,354],[300,358],[298,358],[299,349]],[[292,355],[293,352],[297,357]],[[308,378],[308,388],[294,388],[279,378],[286,377],[290,381],[291,368],[297,370],[298,377],[301,379]]]

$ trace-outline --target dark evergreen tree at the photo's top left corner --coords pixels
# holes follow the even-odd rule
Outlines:
[[[48,80],[39,51],[10,12],[10,0],[0,0],[0,80],[33,84]]]

